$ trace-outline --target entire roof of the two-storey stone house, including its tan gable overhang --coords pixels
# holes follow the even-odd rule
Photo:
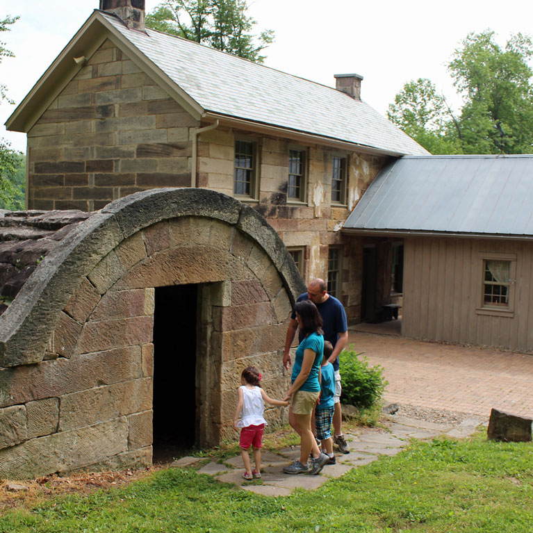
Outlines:
[[[344,92],[175,35],[129,29],[115,15],[100,10],[92,13],[15,109],[6,122],[8,129],[31,128],[32,108],[64,85],[60,76],[73,75],[72,58],[89,53],[99,28],[108,31],[115,44],[122,42],[131,59],[143,63],[147,74],[158,77],[170,93],[181,95],[199,115],[214,113],[393,156],[427,154],[375,109]]]

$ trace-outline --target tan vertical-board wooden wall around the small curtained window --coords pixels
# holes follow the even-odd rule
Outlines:
[[[480,314],[485,252],[516,254],[514,313]],[[406,238],[402,334],[432,341],[533,350],[533,243]]]

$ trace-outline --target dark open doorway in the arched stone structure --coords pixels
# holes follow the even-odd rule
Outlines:
[[[197,436],[197,285],[156,287],[154,463],[182,457]]]

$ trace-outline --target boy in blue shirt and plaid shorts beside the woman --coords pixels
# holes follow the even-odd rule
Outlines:
[[[315,409],[317,439],[321,441],[322,451],[329,457],[326,464],[335,464],[336,462],[333,454],[333,441],[331,440],[331,422],[335,412],[335,374],[333,365],[328,361],[332,352],[333,345],[329,341],[324,341],[324,356],[320,367],[322,373],[321,392]]]

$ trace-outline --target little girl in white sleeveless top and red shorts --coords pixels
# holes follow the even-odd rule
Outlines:
[[[233,427],[240,430],[240,453],[243,456],[245,473],[243,477],[249,481],[254,477],[261,477],[261,438],[266,420],[263,418],[265,404],[263,400],[270,405],[284,405],[288,402],[281,400],[272,400],[267,393],[259,386],[261,374],[254,366],[248,366],[240,375],[240,384],[238,388],[239,400],[235,412]],[[239,416],[242,418],[239,420]],[[248,449],[252,445],[254,448],[255,470],[252,470]]]

